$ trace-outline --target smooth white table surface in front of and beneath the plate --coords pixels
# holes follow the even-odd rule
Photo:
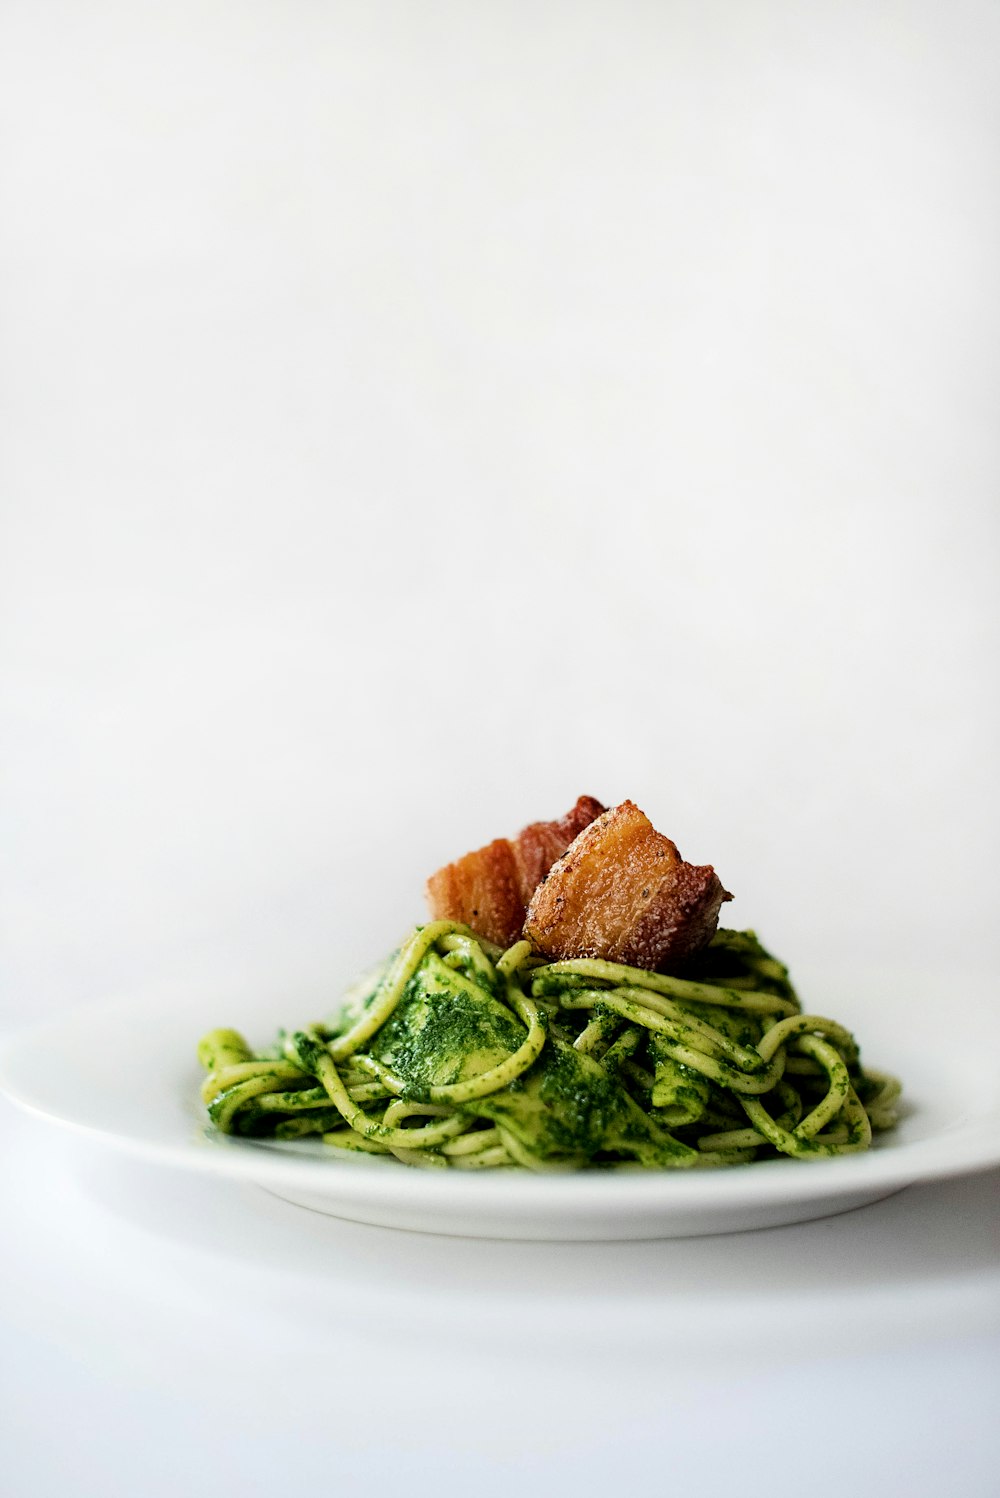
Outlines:
[[[999,1491],[997,1171],[763,1233],[491,1243],[0,1119],[16,1498]]]

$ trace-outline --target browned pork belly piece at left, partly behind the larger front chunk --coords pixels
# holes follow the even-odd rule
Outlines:
[[[593,795],[581,795],[558,821],[531,822],[513,840],[497,837],[445,864],[427,881],[431,915],[439,921],[463,921],[487,941],[510,947],[521,938],[536,885],[603,809]]]

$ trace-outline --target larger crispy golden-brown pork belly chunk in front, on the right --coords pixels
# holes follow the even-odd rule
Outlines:
[[[732,896],[684,863],[632,801],[591,821],[528,903],[524,935],[548,957],[671,971],[711,941]]]

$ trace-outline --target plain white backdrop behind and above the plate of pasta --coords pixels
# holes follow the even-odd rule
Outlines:
[[[340,978],[581,791],[793,969],[982,951],[999,57],[973,0],[7,0],[0,1019]]]

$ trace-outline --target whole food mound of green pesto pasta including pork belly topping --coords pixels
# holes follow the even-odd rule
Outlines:
[[[223,1132],[430,1168],[690,1168],[867,1149],[900,1085],[802,1014],[732,896],[632,801],[581,795],[428,879],[418,926],[323,1023],[198,1047]]]

